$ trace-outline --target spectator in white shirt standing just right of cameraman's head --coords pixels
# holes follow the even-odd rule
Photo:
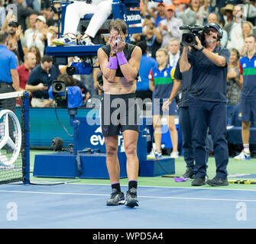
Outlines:
[[[242,8],[241,5],[235,5],[233,7],[233,20],[228,25],[224,27],[224,29],[228,33],[228,43],[227,48],[235,48],[236,50],[240,50],[243,42],[243,35],[241,31],[241,21],[242,21]]]

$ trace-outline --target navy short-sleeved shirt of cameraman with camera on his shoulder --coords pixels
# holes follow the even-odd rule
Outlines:
[[[212,53],[224,56],[226,66],[216,66],[203,52],[190,50],[188,59],[193,67],[190,96],[204,101],[226,102],[226,84],[230,52],[215,47]]]

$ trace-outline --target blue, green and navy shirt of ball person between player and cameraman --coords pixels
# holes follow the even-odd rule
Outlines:
[[[169,98],[173,89],[173,79],[171,77],[171,70],[175,69],[172,66],[167,66],[163,70],[159,70],[158,67],[151,69],[148,75],[150,80],[154,81],[153,98]]]

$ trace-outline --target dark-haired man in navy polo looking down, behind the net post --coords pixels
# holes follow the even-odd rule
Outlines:
[[[44,108],[53,106],[49,101],[48,90],[58,75],[60,75],[60,71],[53,66],[53,58],[51,56],[43,56],[40,65],[31,71],[26,85],[26,90],[32,92],[32,107]]]

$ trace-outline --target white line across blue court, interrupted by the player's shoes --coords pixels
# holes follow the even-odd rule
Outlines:
[[[28,194],[60,194],[60,195],[82,195],[82,196],[109,196],[109,194],[92,194],[92,193],[66,193],[66,192],[43,192],[43,191],[7,191],[0,190],[6,193],[28,193]],[[256,202],[250,199],[228,199],[228,198],[209,198],[209,197],[156,197],[156,196],[138,196],[138,198],[154,198],[154,199],[176,199],[176,200],[199,200],[199,201],[248,201]]]

